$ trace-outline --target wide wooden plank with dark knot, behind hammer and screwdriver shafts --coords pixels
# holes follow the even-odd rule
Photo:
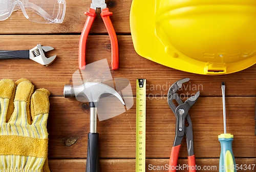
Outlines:
[[[255,97],[227,97],[227,132],[234,135],[236,158],[255,157]],[[86,158],[89,106],[75,98],[51,97],[48,120],[50,158]],[[146,158],[169,158],[175,136],[175,115],[166,99],[146,100]],[[114,111],[114,107],[113,107]],[[136,105],[119,116],[98,121],[100,158],[135,158]],[[222,98],[199,97],[189,110],[197,158],[218,158],[223,133]],[[77,141],[66,146],[68,139]],[[179,157],[187,157],[183,138]]]

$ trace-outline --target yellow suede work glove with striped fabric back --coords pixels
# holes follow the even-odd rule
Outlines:
[[[1,172],[50,171],[46,128],[50,93],[46,89],[33,92],[28,79],[0,81]]]

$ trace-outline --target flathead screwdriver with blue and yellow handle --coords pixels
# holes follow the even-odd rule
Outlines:
[[[220,172],[237,172],[236,162],[232,151],[232,141],[234,136],[227,134],[226,127],[226,105],[225,105],[225,82],[221,84],[222,102],[223,102],[223,119],[224,119],[224,134],[218,136],[221,143],[221,155],[219,163]]]

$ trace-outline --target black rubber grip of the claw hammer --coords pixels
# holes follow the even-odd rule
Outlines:
[[[88,133],[86,172],[100,172],[98,133]]]

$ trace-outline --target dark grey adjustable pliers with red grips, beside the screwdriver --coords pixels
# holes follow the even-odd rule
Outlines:
[[[182,87],[182,83],[187,82],[189,78],[183,78],[175,82],[168,91],[168,105],[173,110],[176,116],[176,131],[174,145],[172,147],[172,153],[170,154],[169,161],[169,170],[168,172],[175,172],[178,162],[178,156],[180,151],[181,141],[186,135],[187,141],[187,153],[188,153],[188,171],[196,172],[196,159],[194,155],[194,146],[193,146],[193,130],[192,122],[188,111],[190,107],[197,101],[200,92],[198,91],[195,96],[189,97],[184,103],[180,99],[177,91]],[[179,104],[176,106],[173,103],[173,100],[176,100]],[[185,119],[187,120],[188,126],[185,126]]]

